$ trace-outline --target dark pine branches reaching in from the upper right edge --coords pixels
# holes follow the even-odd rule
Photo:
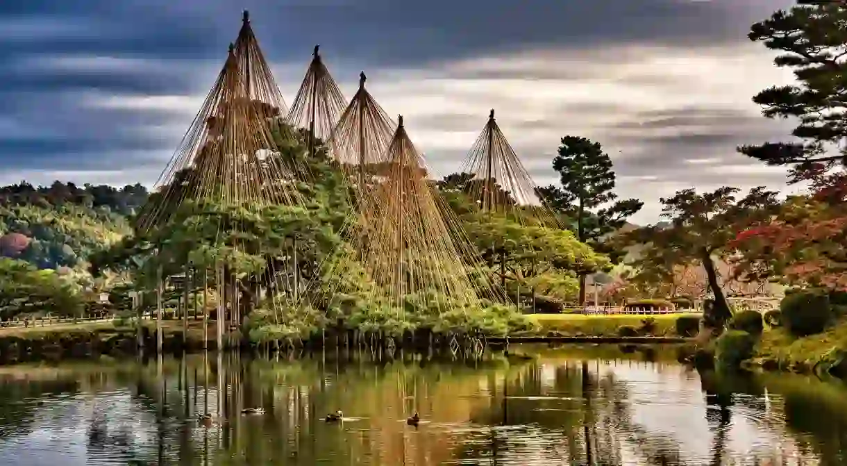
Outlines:
[[[799,119],[799,142],[765,142],[739,152],[769,165],[792,167],[804,180],[847,165],[847,7],[838,3],[780,10],[750,27],[748,37],[779,53],[774,64],[794,71],[789,86],[753,97],[767,118]]]

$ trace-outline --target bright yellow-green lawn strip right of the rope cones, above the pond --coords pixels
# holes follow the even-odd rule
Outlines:
[[[542,332],[556,331],[565,336],[617,336],[617,329],[629,325],[638,329],[645,319],[656,321],[654,336],[676,336],[677,319],[692,313],[667,313],[655,315],[611,314],[585,315],[579,313],[530,314]]]

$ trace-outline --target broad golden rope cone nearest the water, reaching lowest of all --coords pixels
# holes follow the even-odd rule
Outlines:
[[[445,218],[443,201],[402,117],[384,157],[374,158],[374,164],[374,186],[363,194],[360,221],[345,235],[354,244],[364,241],[340,252],[326,273],[362,276],[367,285],[346,292],[401,314],[409,305],[435,315],[463,312],[482,307],[483,299],[501,297],[484,274],[474,273],[483,266],[479,256],[468,253],[466,244],[457,247],[451,235],[457,220]]]

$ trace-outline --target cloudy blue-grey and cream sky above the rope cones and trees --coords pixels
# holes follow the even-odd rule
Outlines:
[[[622,197],[686,187],[784,189],[735,153],[784,139],[759,90],[790,82],[750,42],[791,0],[27,0],[0,2],[0,183],[152,186],[241,25],[288,103],[313,45],[347,96],[361,69],[436,175],[457,169],[490,108],[536,183],[562,136],[600,141]],[[792,188],[794,189],[794,188]]]

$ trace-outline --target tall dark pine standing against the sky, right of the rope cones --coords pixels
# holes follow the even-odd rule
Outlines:
[[[539,188],[544,202],[569,215],[576,225],[579,241],[601,252],[607,251],[603,236],[623,225],[638,212],[644,202],[638,199],[618,200],[612,158],[603,152],[599,142],[579,136],[562,137],[559,153],[553,158],[553,169],[559,173],[562,186]],[[601,206],[608,206],[601,208]],[[595,210],[598,209],[599,210]],[[585,273],[579,274],[579,305],[585,304]]]

